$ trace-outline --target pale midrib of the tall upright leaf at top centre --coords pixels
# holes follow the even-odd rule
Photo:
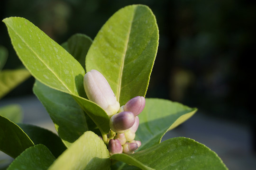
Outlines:
[[[119,102],[120,93],[121,93],[124,62],[125,62],[125,57],[126,57],[126,53],[127,53],[127,49],[128,49],[128,42],[129,42],[129,38],[130,38],[130,34],[131,34],[131,27],[132,27],[133,19],[134,19],[134,12],[133,12],[133,15],[132,15],[132,20],[131,20],[130,27],[129,27],[129,30],[128,30],[128,34],[127,34],[127,37],[126,37],[125,48],[124,48],[123,57],[122,57],[121,69],[120,69],[120,74],[119,74],[118,93],[117,93],[117,101],[118,102]]]

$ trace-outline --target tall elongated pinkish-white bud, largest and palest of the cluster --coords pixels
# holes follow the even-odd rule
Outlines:
[[[118,112],[120,104],[108,81],[99,71],[87,72],[83,78],[83,86],[88,99],[101,106],[109,117]]]

